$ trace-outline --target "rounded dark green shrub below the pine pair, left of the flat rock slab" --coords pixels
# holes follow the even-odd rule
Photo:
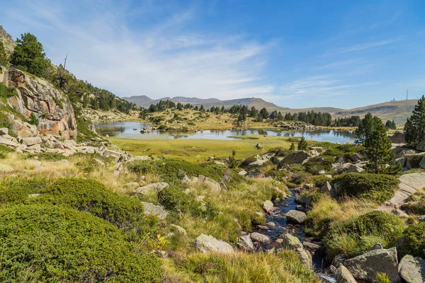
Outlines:
[[[360,197],[381,204],[394,195],[399,180],[391,175],[348,173],[332,180],[339,182],[339,197]]]

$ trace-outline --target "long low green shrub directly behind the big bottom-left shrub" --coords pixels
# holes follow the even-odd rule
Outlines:
[[[128,233],[141,238],[152,233],[156,222],[143,215],[143,205],[132,197],[108,190],[95,180],[64,178],[43,188],[42,195],[31,202],[42,202],[90,212]]]

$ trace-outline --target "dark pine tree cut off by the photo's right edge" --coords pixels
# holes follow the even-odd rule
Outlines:
[[[408,144],[416,146],[425,139],[425,96],[419,98],[414,106],[412,116],[404,124],[404,138]]]

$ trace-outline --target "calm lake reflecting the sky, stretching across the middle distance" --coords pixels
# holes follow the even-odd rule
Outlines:
[[[149,123],[143,122],[106,122],[96,125],[96,131],[109,137],[122,137],[128,139],[220,139],[234,140],[234,137],[240,137],[247,134],[261,134],[270,137],[302,137],[313,139],[315,141],[330,141],[344,143],[354,141],[353,132],[341,132],[333,130],[314,130],[314,131],[284,131],[279,129],[261,129],[244,131],[198,131],[198,132],[162,132],[152,131],[149,134],[142,134],[140,130],[144,127],[151,127]]]

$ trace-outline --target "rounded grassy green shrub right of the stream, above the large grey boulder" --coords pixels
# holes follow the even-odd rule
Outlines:
[[[404,229],[404,221],[398,216],[373,211],[334,224],[324,243],[330,257],[339,253],[358,255],[376,243],[384,248],[392,246],[403,235]]]

